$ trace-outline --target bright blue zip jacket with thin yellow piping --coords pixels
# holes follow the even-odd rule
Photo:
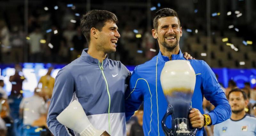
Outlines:
[[[186,60],[181,51],[172,55],[172,60]],[[131,118],[144,101],[143,131],[145,136],[164,136],[161,126],[162,118],[167,110],[167,102],[160,83],[160,74],[164,63],[169,57],[161,52],[150,61],[137,66],[131,76],[129,90],[125,92],[126,121]],[[212,125],[230,118],[231,108],[225,93],[220,88],[212,69],[202,60],[188,60],[196,73],[196,86],[192,97],[192,107],[202,114],[203,97],[209,100],[215,109],[210,111]],[[168,121],[169,120],[169,121]],[[167,126],[171,127],[171,118],[167,118]],[[197,131],[197,136],[203,135],[203,129]]]

